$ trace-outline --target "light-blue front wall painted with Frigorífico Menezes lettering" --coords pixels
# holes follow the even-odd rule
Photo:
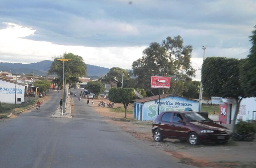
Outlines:
[[[198,111],[199,103],[186,98],[170,96],[160,99],[159,113],[164,111]],[[143,105],[143,120],[151,121],[158,116],[158,100],[145,102]]]

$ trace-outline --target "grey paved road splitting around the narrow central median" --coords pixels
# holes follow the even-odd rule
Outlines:
[[[190,167],[108,124],[85,99],[72,97],[73,119],[50,118],[61,94],[49,94],[40,112],[0,122],[0,167]]]

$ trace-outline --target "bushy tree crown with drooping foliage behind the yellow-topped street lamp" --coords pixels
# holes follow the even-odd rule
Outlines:
[[[67,82],[70,85],[76,86],[79,82],[79,77],[86,75],[86,65],[83,58],[73,53],[63,54],[59,58],[71,59],[70,61],[64,62],[64,76],[67,77]],[[63,62],[55,58],[52,62],[48,74],[56,74],[58,78],[62,79],[63,76]]]

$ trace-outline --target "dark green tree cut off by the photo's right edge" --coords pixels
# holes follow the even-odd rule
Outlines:
[[[241,82],[247,97],[256,97],[256,26],[252,31],[253,35],[250,36],[252,47],[248,57],[243,61],[241,66]]]

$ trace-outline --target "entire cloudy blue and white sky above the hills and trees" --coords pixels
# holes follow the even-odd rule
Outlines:
[[[86,64],[131,69],[151,42],[181,35],[200,80],[206,57],[245,58],[255,0],[0,0],[0,62],[72,52]]]

